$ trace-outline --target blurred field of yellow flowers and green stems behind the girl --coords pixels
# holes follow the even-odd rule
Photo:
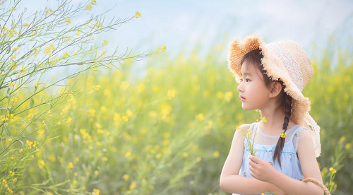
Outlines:
[[[43,141],[51,131],[55,138],[33,153],[24,184],[48,181],[43,186],[50,189],[69,179],[65,188],[95,194],[226,194],[219,178],[235,127],[260,114],[242,110],[237,83],[226,60],[217,57],[221,52],[215,47],[204,60],[197,51],[189,59],[148,59],[142,79],[129,68],[81,75],[82,90],[100,87],[50,110],[48,128],[28,137]],[[333,167],[334,194],[351,194],[353,62],[342,53],[330,68],[330,55],[323,56],[312,60],[314,75],[303,93],[321,126],[324,182]],[[56,123],[61,118],[66,120]]]

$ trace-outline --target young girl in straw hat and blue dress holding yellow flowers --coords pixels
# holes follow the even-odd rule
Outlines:
[[[323,182],[316,161],[320,127],[309,115],[309,98],[301,93],[313,74],[304,49],[292,40],[265,45],[252,35],[232,40],[228,63],[239,83],[243,109],[258,110],[261,120],[235,131],[221,189],[234,194],[322,195],[321,187],[301,182],[306,177]],[[245,134],[256,155],[250,155]]]

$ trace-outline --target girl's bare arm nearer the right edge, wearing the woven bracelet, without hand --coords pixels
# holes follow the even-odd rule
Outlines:
[[[323,182],[321,172],[318,167],[318,162],[315,157],[315,149],[311,135],[309,131],[300,131],[299,133],[299,148],[297,151],[299,162],[301,165],[301,171],[303,172],[304,178],[313,177]],[[282,189],[289,195],[301,194],[301,195],[322,195],[323,189],[318,187],[316,184],[311,182],[301,182],[297,179],[292,179],[287,175],[280,172],[276,172],[275,177],[270,181],[276,187]]]

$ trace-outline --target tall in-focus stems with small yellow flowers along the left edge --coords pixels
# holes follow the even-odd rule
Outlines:
[[[28,170],[31,161],[41,169],[47,167],[44,160],[35,160],[35,156],[40,154],[44,143],[50,143],[52,137],[49,134],[57,129],[56,126],[72,120],[67,114],[56,114],[51,110],[63,102],[74,100],[81,93],[99,88],[97,85],[82,91],[77,88],[77,80],[65,85],[62,83],[88,70],[112,69],[127,59],[145,59],[166,49],[162,46],[148,54],[117,54],[117,50],[106,54],[103,49],[109,41],[95,43],[93,35],[112,30],[141,17],[141,14],[136,11],[134,16],[110,23],[104,23],[102,16],[93,16],[73,25],[71,20],[82,11],[90,10],[96,1],[87,1],[77,8],[73,8],[70,2],[57,1],[55,8],[30,14],[21,7],[20,0],[0,3],[1,194],[37,194],[38,191],[88,193],[80,188],[65,189],[67,179],[57,182],[52,176],[39,177],[41,180],[38,180],[28,175],[32,170]],[[54,69],[68,66],[80,66],[80,71],[61,75],[58,81],[43,81]],[[55,89],[58,91],[53,93]],[[99,194],[99,191],[94,193]]]

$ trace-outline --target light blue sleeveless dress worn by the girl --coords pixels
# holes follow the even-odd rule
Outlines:
[[[253,148],[256,150],[256,157],[267,160],[275,167],[275,170],[278,172],[282,172],[283,174],[292,177],[293,179],[303,180],[304,176],[301,172],[301,166],[299,162],[299,158],[297,156],[298,150],[298,143],[299,143],[299,132],[301,129],[306,129],[304,126],[299,126],[298,124],[292,126],[291,129],[287,129],[286,137],[285,137],[285,146],[283,147],[282,154],[281,154],[281,165],[282,169],[280,168],[280,164],[275,160],[273,162],[273,153],[275,153],[276,143],[280,135],[277,136],[270,136],[268,134],[263,133],[261,131],[260,122],[254,122],[250,126],[251,138],[255,136],[255,141],[253,144]],[[307,129],[306,129],[307,130]],[[289,139],[287,139],[289,138]],[[239,175],[243,177],[251,177],[250,169],[249,169],[249,150],[248,144],[246,140],[244,140],[244,155],[243,155],[243,163],[241,164],[241,168],[239,171]],[[237,195],[237,194],[233,194]]]

